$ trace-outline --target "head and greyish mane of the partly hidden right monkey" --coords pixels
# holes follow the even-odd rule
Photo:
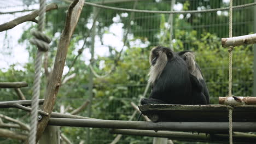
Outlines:
[[[178,55],[187,63],[189,72],[192,74],[196,69],[194,53],[192,51],[182,51],[178,52]]]

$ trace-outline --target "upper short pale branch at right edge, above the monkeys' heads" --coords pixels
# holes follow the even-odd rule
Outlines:
[[[248,34],[240,37],[222,38],[222,46],[240,46],[256,43],[256,34]]]

